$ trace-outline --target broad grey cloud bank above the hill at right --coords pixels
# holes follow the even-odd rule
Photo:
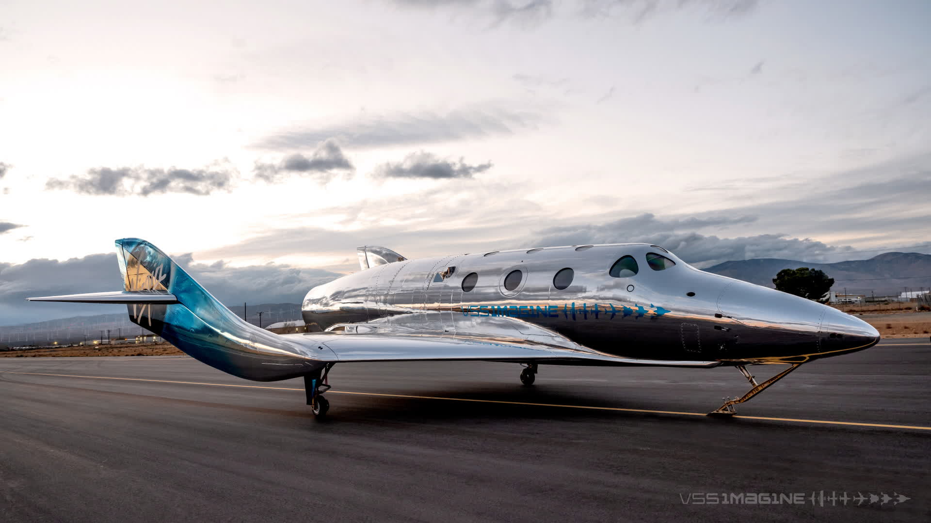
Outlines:
[[[600,225],[567,225],[540,231],[540,243],[653,243],[702,267],[752,258],[837,262],[869,257],[870,253],[845,255],[845,251],[856,249],[791,234],[753,233],[803,231],[809,237],[850,238],[848,241],[860,245],[869,242],[866,245],[870,247],[901,246],[923,243],[924,224],[931,222],[931,209],[925,202],[926,194],[931,194],[931,154],[817,179],[767,185],[762,195],[759,185],[722,181],[719,190],[726,201],[742,202],[749,197],[754,203],[732,204],[714,215],[678,220],[660,220],[652,214],[616,221],[596,219],[590,222]],[[722,237],[722,227],[746,233]],[[903,240],[910,232],[913,237]]]

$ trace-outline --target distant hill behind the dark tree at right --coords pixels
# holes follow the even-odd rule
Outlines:
[[[870,260],[815,263],[796,260],[760,258],[742,262],[723,262],[705,269],[708,273],[731,276],[757,285],[773,288],[773,278],[782,269],[809,267],[819,269],[834,278],[834,290],[851,294],[886,296],[898,294],[904,288],[931,288],[931,254],[917,252],[887,252]],[[903,276],[924,276],[909,277]],[[892,279],[878,279],[892,278]]]

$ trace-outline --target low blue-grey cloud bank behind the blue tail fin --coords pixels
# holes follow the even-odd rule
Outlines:
[[[223,303],[300,303],[310,288],[341,276],[320,269],[268,263],[229,267],[223,262],[196,263],[191,254],[172,256],[182,268]],[[74,315],[125,313],[122,305],[24,302],[30,296],[76,294],[122,288],[114,254],[90,254],[65,261],[34,259],[0,262],[0,325]]]

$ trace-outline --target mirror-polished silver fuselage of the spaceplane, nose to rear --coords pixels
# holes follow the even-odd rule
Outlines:
[[[660,262],[665,268],[657,270],[647,261],[654,255],[674,264]],[[626,256],[636,262],[636,274],[611,275]],[[573,273],[568,287],[554,283],[567,268]],[[514,271],[521,272],[516,287],[515,277],[506,282]],[[477,278],[474,288],[464,288],[472,274],[466,284]],[[302,308],[310,331],[366,324],[380,332],[581,345],[650,360],[803,362],[879,340],[876,329],[854,316],[700,271],[647,244],[385,263],[311,289]]]

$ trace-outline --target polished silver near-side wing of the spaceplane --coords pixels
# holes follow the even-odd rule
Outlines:
[[[663,367],[717,367],[717,361],[661,361],[618,357],[585,348],[564,348],[517,339],[478,339],[432,334],[346,334],[315,332],[285,334],[308,351],[321,345],[315,357],[333,362],[362,361],[516,361],[561,365],[650,365]]]

